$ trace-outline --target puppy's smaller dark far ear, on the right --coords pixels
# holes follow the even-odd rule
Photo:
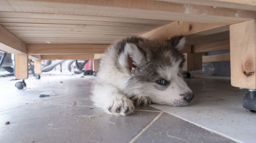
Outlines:
[[[175,36],[170,40],[167,40],[172,48],[176,48],[178,51],[181,51],[185,45],[185,37],[184,36]]]

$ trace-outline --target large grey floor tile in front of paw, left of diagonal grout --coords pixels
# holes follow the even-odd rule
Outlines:
[[[0,112],[0,142],[128,142],[158,114],[117,117],[98,108],[37,103]]]

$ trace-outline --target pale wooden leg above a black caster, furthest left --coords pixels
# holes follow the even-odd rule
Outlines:
[[[15,54],[15,76],[16,79],[29,77],[28,54]]]

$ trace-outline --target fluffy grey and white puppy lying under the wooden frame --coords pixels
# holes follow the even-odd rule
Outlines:
[[[95,106],[114,115],[132,113],[151,102],[185,106],[194,97],[183,80],[183,36],[166,41],[130,37],[112,44],[102,56],[92,89]]]

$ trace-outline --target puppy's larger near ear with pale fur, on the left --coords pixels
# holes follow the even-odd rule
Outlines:
[[[123,52],[119,55],[119,64],[124,67],[127,72],[131,73],[146,61],[146,53],[136,44],[126,41]]]

